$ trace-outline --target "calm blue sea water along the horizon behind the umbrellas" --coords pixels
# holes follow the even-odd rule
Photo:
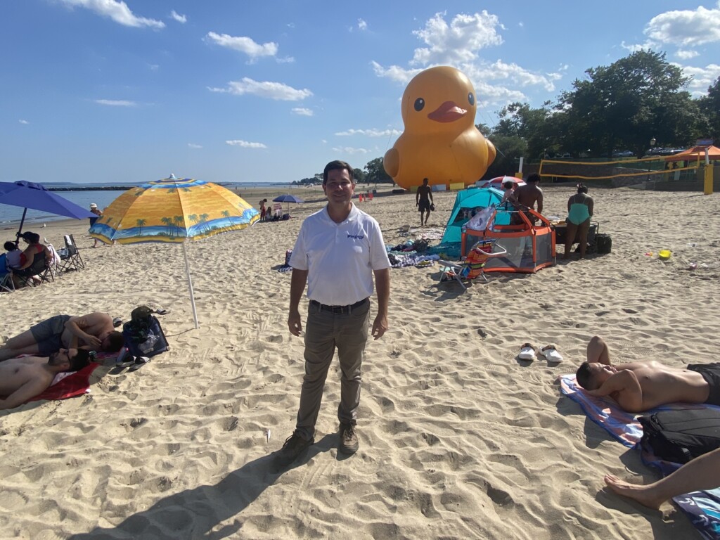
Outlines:
[[[82,186],[84,188],[87,187],[102,187],[103,185],[111,185],[111,186],[117,186],[118,184],[91,184],[89,186],[88,184],[45,184],[45,186],[53,188],[53,187],[62,187],[62,188],[70,188],[77,186]],[[128,184],[127,189],[130,189],[132,186],[136,186],[137,184]],[[289,184],[263,184],[263,183],[238,183],[238,184],[222,184],[222,186],[225,186],[228,189],[231,189],[232,191],[235,191],[235,189],[242,190],[243,188],[256,188],[256,187],[267,187],[272,190],[276,189],[284,189],[289,187]],[[74,202],[75,204],[78,204],[79,206],[83,208],[90,207],[90,203],[94,202],[97,204],[97,206],[102,210],[105,207],[109,206],[111,202],[113,202],[117,197],[120,197],[123,193],[125,193],[125,189],[120,190],[105,190],[105,189],[98,189],[98,190],[88,190],[88,191],[68,191],[68,192],[55,192],[55,194],[60,195],[60,197],[64,197],[65,199],[68,199],[68,201]],[[253,204],[252,202],[248,201],[250,204]],[[1,228],[9,228],[12,225],[18,225],[20,220],[22,219],[22,208],[17,206],[9,206],[8,204],[0,204],[0,227]],[[58,215],[51,215],[46,212],[40,212],[39,210],[27,210],[27,215],[25,215],[25,224],[23,225],[24,229],[31,229],[30,225],[37,225],[43,222],[48,221],[56,221],[56,220],[67,220],[68,217],[64,216],[58,216]]]

